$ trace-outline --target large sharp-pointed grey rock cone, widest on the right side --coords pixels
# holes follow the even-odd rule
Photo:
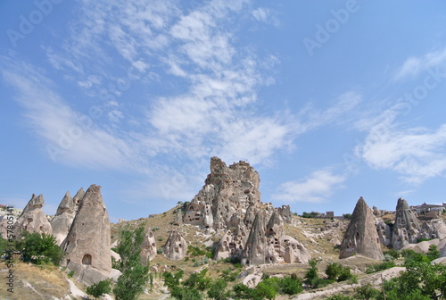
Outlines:
[[[351,214],[351,221],[343,236],[339,258],[350,257],[354,254],[362,254],[377,260],[384,259],[376,232],[375,216],[362,197],[359,198]]]

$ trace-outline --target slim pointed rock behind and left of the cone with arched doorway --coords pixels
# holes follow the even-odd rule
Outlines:
[[[70,192],[67,191],[65,196],[63,196],[61,204],[59,204],[59,207],[57,208],[56,214],[51,220],[51,227],[57,245],[61,245],[65,237],[67,237],[71,223],[74,220],[76,209],[77,207],[73,202],[73,198],[71,198]]]

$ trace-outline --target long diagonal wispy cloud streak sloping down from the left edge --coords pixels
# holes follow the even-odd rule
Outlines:
[[[16,90],[15,100],[25,109],[29,128],[45,145],[55,162],[93,168],[127,168],[131,141],[101,129],[87,116],[73,110],[54,92],[45,71],[27,63],[0,58],[5,82]]]

